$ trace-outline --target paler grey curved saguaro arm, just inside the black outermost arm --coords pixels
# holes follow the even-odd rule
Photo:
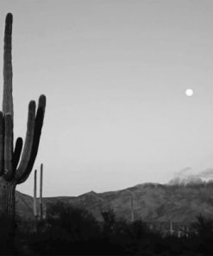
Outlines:
[[[31,155],[34,142],[34,117],[35,117],[35,102],[30,101],[28,104],[28,129],[25,138],[25,144],[22,151],[21,162],[16,170],[16,179],[22,176],[22,173],[27,169],[28,161]]]

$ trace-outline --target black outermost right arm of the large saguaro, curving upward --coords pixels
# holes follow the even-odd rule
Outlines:
[[[35,160],[35,157],[37,156],[38,148],[39,148],[41,129],[42,129],[43,120],[44,120],[45,107],[46,107],[46,97],[45,97],[45,95],[41,95],[40,99],[39,99],[38,110],[36,112],[36,118],[34,121],[34,142],[33,142],[33,147],[31,150],[31,156],[28,161],[28,167],[22,173],[21,176],[17,177],[16,184],[21,184],[22,182],[25,182],[28,179],[28,176],[30,175],[31,170],[34,167],[34,160]]]

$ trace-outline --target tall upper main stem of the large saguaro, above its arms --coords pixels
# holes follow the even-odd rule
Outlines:
[[[3,51],[3,114],[10,113],[13,120],[13,98],[12,98],[12,23],[13,16],[8,14],[4,30]]]

